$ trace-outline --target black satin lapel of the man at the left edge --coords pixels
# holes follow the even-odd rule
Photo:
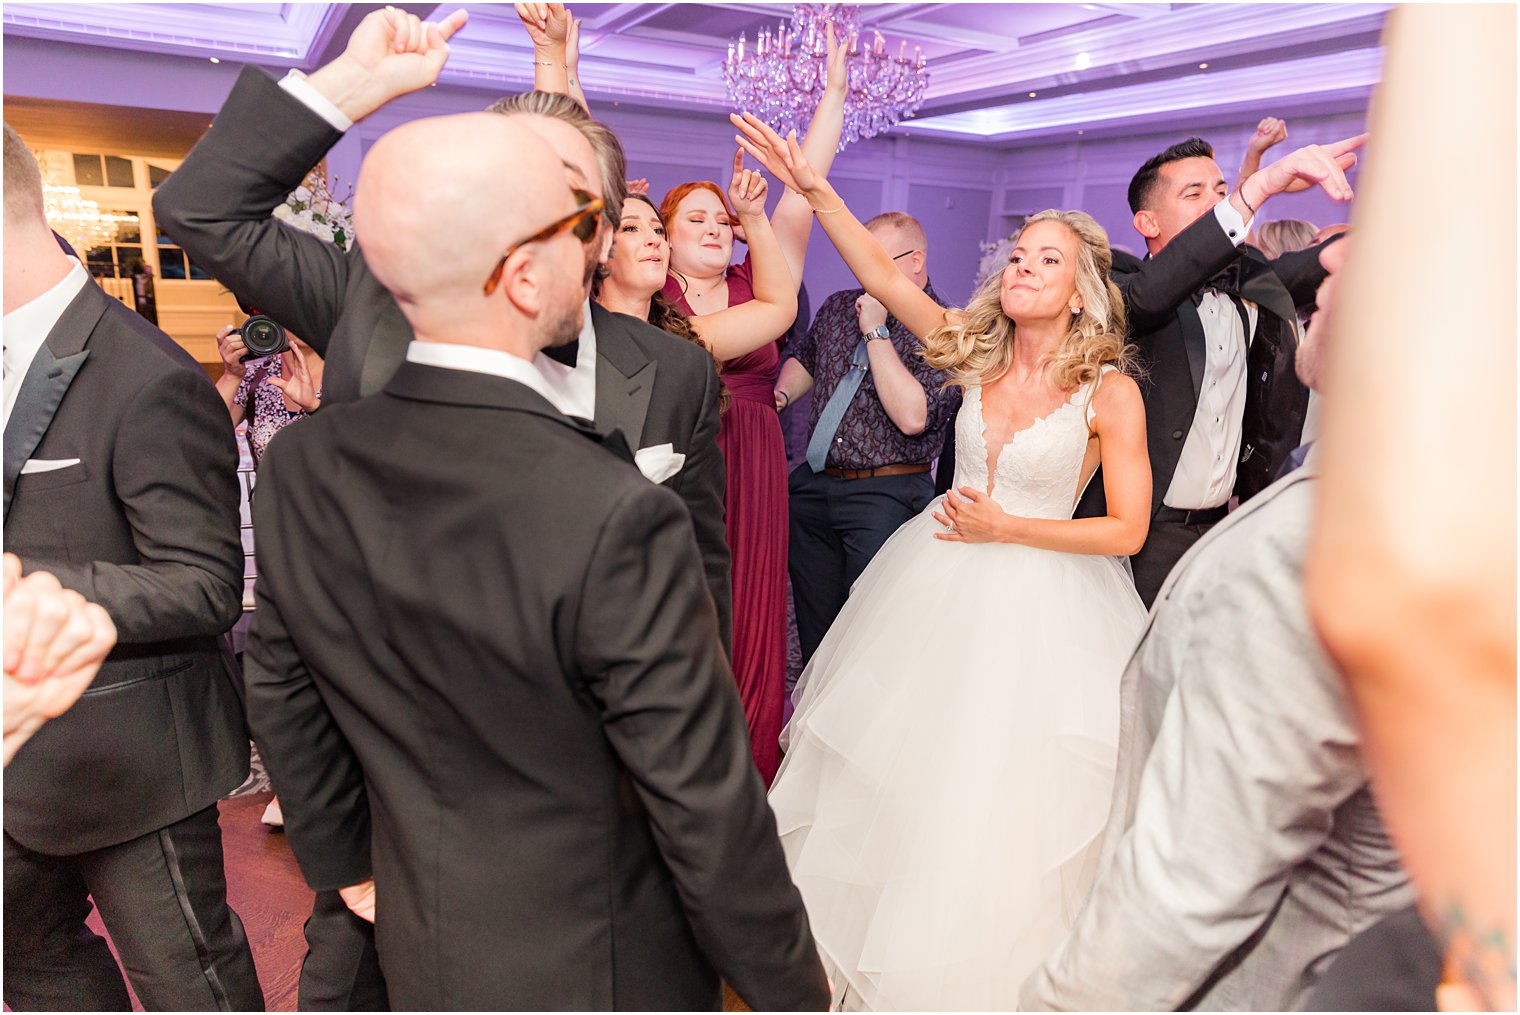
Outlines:
[[[11,494],[21,466],[53,425],[53,415],[74,383],[74,375],[84,366],[90,349],[84,348],[96,322],[105,313],[109,299],[94,281],[85,283],[79,295],[64,308],[47,340],[32,357],[32,365],[21,380],[11,419],[5,428],[5,511],[11,511]]]

